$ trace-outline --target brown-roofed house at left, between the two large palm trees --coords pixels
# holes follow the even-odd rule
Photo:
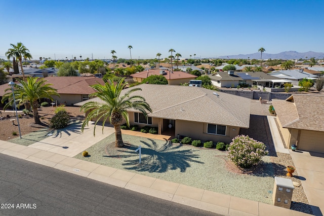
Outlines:
[[[95,77],[46,77],[45,80],[53,84],[51,87],[60,94],[60,97],[53,96],[54,100],[57,100],[58,104],[65,103],[66,105],[89,99],[89,94],[95,92],[90,85],[104,84],[102,79]],[[5,94],[7,88],[9,88],[8,84],[0,86],[0,97]]]

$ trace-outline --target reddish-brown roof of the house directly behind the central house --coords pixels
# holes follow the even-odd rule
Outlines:
[[[177,80],[177,79],[185,79],[185,78],[190,78],[190,79],[195,79],[197,76],[191,75],[184,73],[183,71],[173,71],[171,73],[170,70],[164,70],[165,75],[163,75],[167,80]],[[151,75],[160,75],[160,70],[159,69],[148,69],[144,70],[140,73],[132,74],[131,77],[135,78],[148,78]]]

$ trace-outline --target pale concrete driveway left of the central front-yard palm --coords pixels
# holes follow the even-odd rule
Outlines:
[[[69,129],[63,129],[60,132],[48,134],[48,138],[33,143],[29,147],[74,157],[115,132],[112,126],[105,126],[102,133],[102,126],[97,125],[96,134],[94,136],[94,126],[93,122],[89,122],[89,126],[85,127],[84,132],[81,132],[81,125],[75,124]]]

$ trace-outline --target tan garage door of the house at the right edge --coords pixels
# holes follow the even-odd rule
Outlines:
[[[324,153],[324,132],[302,130],[298,149],[308,152]]]

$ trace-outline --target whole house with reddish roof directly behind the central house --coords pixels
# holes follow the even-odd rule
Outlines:
[[[151,75],[163,75],[169,85],[180,85],[180,83],[189,83],[190,80],[194,80],[197,76],[184,73],[182,71],[173,71],[170,70],[159,70],[159,69],[148,69],[140,73],[132,74],[131,77],[137,81],[142,82],[144,79],[148,78]]]

